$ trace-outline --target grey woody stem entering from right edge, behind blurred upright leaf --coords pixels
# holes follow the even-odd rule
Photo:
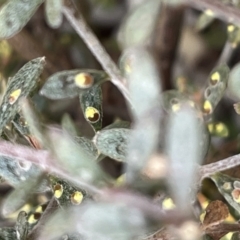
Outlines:
[[[225,158],[221,161],[200,167],[200,181],[216,172],[221,172],[240,165],[240,154]]]

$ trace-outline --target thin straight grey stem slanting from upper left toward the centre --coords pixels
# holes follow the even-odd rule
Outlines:
[[[124,97],[130,102],[130,96],[126,87],[126,81],[121,76],[121,72],[117,65],[113,62],[109,54],[101,45],[96,35],[87,25],[83,16],[77,11],[71,0],[65,1],[63,14],[72,25],[77,34],[83,39],[92,54],[101,64],[102,68],[109,74],[112,83],[122,92]]]

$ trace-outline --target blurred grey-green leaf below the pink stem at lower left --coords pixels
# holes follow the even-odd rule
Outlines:
[[[18,185],[5,199],[2,205],[2,214],[7,216],[20,209],[32,196],[42,180],[42,172],[36,172],[31,180]]]

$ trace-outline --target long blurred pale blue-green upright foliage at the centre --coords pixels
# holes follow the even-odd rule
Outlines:
[[[156,152],[160,134],[161,88],[154,58],[147,49],[125,50],[120,64],[127,79],[134,117],[127,156],[127,175],[133,180]]]

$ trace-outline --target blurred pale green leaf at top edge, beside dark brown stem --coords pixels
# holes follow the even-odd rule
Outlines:
[[[127,15],[118,33],[122,49],[145,45],[151,40],[160,4],[160,0],[144,1]]]

